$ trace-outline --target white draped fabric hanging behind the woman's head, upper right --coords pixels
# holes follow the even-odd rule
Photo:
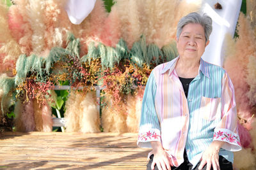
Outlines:
[[[221,10],[214,8],[217,2],[221,4]],[[200,13],[207,13],[212,18],[210,43],[202,56],[207,62],[222,66],[225,35],[228,33],[234,36],[241,4],[242,0],[203,0]]]

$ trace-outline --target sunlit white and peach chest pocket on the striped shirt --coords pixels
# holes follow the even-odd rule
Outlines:
[[[221,114],[221,98],[208,98],[202,96],[200,115],[208,121],[215,120]]]

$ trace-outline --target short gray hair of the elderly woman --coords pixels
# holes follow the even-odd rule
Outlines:
[[[205,43],[209,40],[209,36],[212,32],[212,18],[204,13],[204,15],[200,15],[199,13],[193,12],[189,13],[185,17],[182,17],[179,20],[177,25],[177,39],[179,39],[182,29],[187,24],[200,24],[204,27],[205,34]]]

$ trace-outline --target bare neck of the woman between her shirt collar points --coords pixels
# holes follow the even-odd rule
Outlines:
[[[195,78],[198,74],[198,68],[200,66],[200,60],[189,60],[179,58],[177,61],[175,71],[179,77],[182,78]]]

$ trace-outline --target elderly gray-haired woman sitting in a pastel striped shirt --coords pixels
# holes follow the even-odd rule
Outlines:
[[[147,169],[232,169],[232,152],[241,150],[232,82],[201,58],[211,31],[207,15],[181,18],[179,57],[148,78],[138,138],[138,146],[152,147]]]

